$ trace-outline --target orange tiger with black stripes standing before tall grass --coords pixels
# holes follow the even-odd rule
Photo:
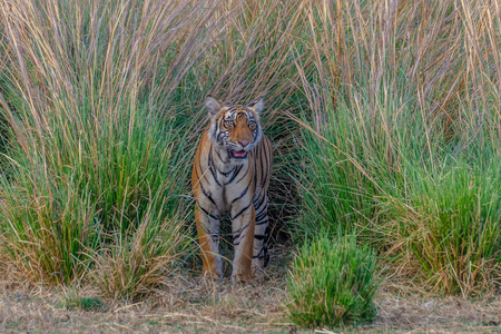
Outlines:
[[[248,283],[268,265],[268,187],[272,143],[263,134],[263,98],[247,105],[220,105],[205,98],[210,118],[202,134],[191,173],[195,220],[203,273],[223,279],[219,219],[229,213],[235,247],[232,282]]]

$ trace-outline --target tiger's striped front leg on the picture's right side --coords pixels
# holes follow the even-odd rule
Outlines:
[[[252,281],[250,264],[253,261],[255,215],[254,205],[250,200],[247,205],[232,207],[233,243],[235,246],[232,273],[234,283]]]

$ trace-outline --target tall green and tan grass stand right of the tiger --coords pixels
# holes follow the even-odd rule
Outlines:
[[[308,7],[299,235],[356,226],[393,276],[444,292],[497,277],[500,14],[495,1]]]

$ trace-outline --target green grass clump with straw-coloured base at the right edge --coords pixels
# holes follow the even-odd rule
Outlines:
[[[431,170],[409,167],[409,200],[395,205],[389,223],[397,263],[415,259],[414,275],[430,291],[479,294],[499,282],[501,198],[499,158],[487,166],[448,164]],[[480,165],[480,164],[479,164]]]

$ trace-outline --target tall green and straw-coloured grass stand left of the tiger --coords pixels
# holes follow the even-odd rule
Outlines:
[[[203,30],[184,23],[204,24],[205,11],[187,1],[19,1],[1,10],[2,107],[16,140],[1,185],[2,252],[39,279],[69,284],[106,258],[111,282],[154,286],[184,244],[187,160],[174,148],[190,127],[174,128],[175,115],[159,108],[204,50],[194,48]],[[122,252],[127,271],[112,265]],[[128,285],[112,288],[132,295]]]

